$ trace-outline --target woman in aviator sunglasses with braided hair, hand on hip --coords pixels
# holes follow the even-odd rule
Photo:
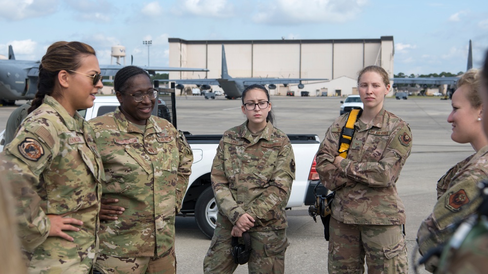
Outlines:
[[[85,76],[86,75],[86,76]],[[98,249],[102,161],[95,134],[76,110],[102,88],[93,48],[49,46],[36,97],[1,154],[0,177],[18,201],[29,273],[89,273]]]

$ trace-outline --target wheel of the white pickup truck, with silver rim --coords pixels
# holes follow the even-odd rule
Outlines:
[[[209,239],[213,236],[218,212],[219,209],[215,203],[212,187],[207,187],[195,204],[195,221],[197,221],[200,231]]]

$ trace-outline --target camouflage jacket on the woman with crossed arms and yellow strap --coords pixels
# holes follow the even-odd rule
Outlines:
[[[336,192],[332,216],[347,224],[405,224],[395,183],[412,147],[408,124],[384,109],[368,124],[358,119],[346,159],[334,166],[347,116],[328,128],[316,158],[322,183]]]

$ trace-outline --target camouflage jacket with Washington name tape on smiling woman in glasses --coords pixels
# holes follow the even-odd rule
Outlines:
[[[193,154],[183,134],[151,116],[145,132],[115,112],[91,119],[102,154],[104,198],[125,208],[118,220],[102,220],[100,250],[119,257],[161,255],[171,249],[175,214],[188,186]]]

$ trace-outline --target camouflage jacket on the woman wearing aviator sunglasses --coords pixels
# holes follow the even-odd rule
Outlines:
[[[71,117],[58,101],[46,96],[2,152],[0,176],[16,192],[19,236],[31,268],[44,261],[50,264],[47,268],[81,267],[88,272],[93,264],[103,177],[94,137],[83,117],[78,113]],[[74,242],[48,237],[48,214],[83,221],[79,232],[64,231]]]

